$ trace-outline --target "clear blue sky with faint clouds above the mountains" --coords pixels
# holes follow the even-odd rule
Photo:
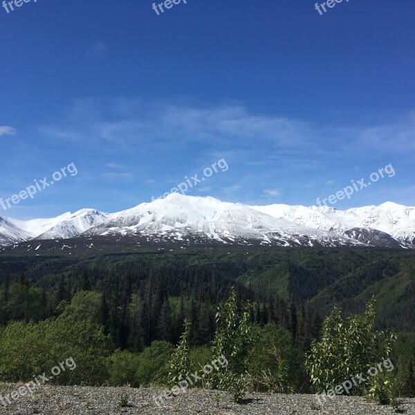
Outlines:
[[[320,1],[322,3],[322,1]],[[187,194],[335,208],[415,205],[415,3],[31,0],[0,8],[0,215],[116,212],[225,158]]]

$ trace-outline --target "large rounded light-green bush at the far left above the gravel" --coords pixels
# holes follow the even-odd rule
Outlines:
[[[76,368],[53,378],[59,385],[102,385],[108,378],[107,358],[113,350],[102,326],[89,320],[58,317],[39,323],[13,322],[0,335],[0,380],[33,380],[73,358]]]

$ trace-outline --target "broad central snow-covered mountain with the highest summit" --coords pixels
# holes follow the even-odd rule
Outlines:
[[[331,243],[338,239],[330,232],[278,219],[248,205],[181,194],[170,194],[165,199],[142,203],[136,208],[113,214],[111,219],[84,235],[138,232],[176,234],[178,239],[188,234],[199,234],[218,241],[260,239],[264,242],[279,241],[286,246],[295,242],[297,237],[305,238],[308,245],[313,245],[313,240]],[[356,243],[349,237],[344,237],[342,242]]]

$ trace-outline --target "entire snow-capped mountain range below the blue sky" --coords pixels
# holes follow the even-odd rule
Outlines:
[[[0,216],[0,246],[30,239],[120,236],[154,243],[415,248],[415,208],[391,202],[344,211],[300,205],[249,206],[170,194],[113,214],[83,209],[31,221]]]

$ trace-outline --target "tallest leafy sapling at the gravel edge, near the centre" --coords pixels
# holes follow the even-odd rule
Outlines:
[[[216,333],[212,342],[212,356],[224,356],[227,367],[219,367],[210,374],[214,389],[230,391],[234,402],[245,396],[248,376],[248,357],[252,346],[249,304],[239,310],[237,292],[232,288],[230,297],[216,313]]]

